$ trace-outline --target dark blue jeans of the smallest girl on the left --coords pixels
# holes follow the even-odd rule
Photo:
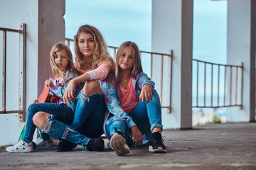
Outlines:
[[[49,113],[55,117],[56,120],[61,121],[67,125],[72,123],[74,118],[74,113],[70,107],[65,104],[58,103],[33,103],[28,107],[27,121],[26,121],[26,131],[23,140],[27,143],[33,140],[33,134],[36,130],[36,125],[33,124],[33,115],[37,112],[43,111]],[[49,138],[47,134],[41,133],[43,140]]]

